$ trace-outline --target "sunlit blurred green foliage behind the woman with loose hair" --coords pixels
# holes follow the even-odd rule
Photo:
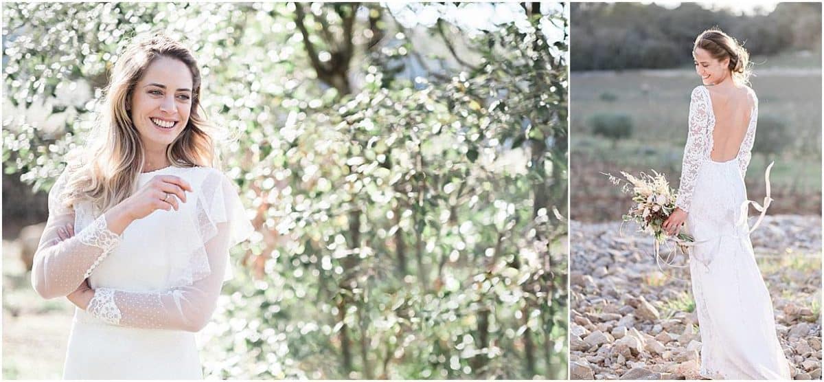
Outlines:
[[[375,3],[4,7],[3,163],[38,189],[127,38],[166,31],[199,58],[257,227],[204,329],[208,376],[566,378],[560,6],[472,35],[405,31]]]

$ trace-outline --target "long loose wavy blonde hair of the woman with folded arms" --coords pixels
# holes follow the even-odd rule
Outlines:
[[[194,56],[177,40],[162,34],[135,38],[120,55],[105,90],[105,101],[97,115],[97,139],[82,158],[70,164],[77,171],[68,179],[62,199],[73,206],[88,200],[108,210],[135,191],[143,172],[145,153],[140,134],[128,110],[134,88],[155,60],[178,59],[192,74],[192,106],[189,121],[174,142],[166,148],[166,158],[176,167],[214,167],[217,165],[211,128],[200,114],[200,69]],[[85,157],[88,155],[88,157]]]

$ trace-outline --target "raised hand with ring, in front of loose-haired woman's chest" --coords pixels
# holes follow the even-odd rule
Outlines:
[[[186,202],[185,191],[192,186],[174,175],[156,175],[132,196],[106,212],[109,229],[117,234],[134,220],[143,219],[155,210],[180,210],[180,202]]]

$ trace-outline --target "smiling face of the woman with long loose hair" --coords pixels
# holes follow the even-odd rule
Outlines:
[[[178,59],[155,59],[131,94],[131,116],[144,149],[165,151],[192,110],[192,73]]]

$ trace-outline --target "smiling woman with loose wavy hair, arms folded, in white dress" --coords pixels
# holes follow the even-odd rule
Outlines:
[[[252,232],[215,166],[190,50],[165,35],[119,56],[91,140],[49,191],[31,282],[77,305],[63,378],[202,379],[194,333]]]

